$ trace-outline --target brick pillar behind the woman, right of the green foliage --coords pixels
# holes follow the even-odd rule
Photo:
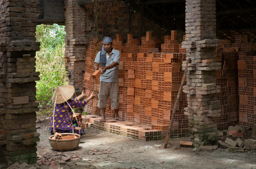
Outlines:
[[[87,39],[85,35],[85,8],[76,0],[65,0],[65,67],[69,85],[78,94],[82,91]]]

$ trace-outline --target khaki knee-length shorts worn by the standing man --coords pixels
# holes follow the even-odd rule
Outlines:
[[[99,88],[99,108],[107,107],[108,96],[110,96],[110,105],[114,109],[119,108],[118,82],[100,82]]]

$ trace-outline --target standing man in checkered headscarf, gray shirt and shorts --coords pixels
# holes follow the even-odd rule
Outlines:
[[[102,118],[100,122],[105,122],[105,112],[108,96],[110,96],[111,107],[114,108],[115,120],[124,121],[118,115],[119,93],[118,93],[118,65],[120,61],[120,52],[112,48],[113,40],[110,37],[104,37],[102,50],[98,52],[95,58],[95,71],[99,69],[101,63],[99,103]]]

